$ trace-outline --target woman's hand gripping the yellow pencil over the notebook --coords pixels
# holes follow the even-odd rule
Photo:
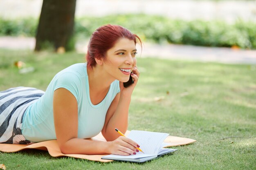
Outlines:
[[[110,142],[109,152],[115,155],[136,155],[139,145],[127,137],[120,136]]]

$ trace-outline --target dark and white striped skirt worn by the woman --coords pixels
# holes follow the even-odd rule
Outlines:
[[[0,143],[31,143],[21,133],[22,118],[27,107],[44,93],[31,87],[15,87],[0,91]]]

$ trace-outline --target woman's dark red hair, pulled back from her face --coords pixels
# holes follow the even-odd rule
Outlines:
[[[111,49],[120,38],[133,40],[141,45],[141,39],[138,35],[131,33],[128,29],[119,25],[100,26],[90,38],[88,51],[86,55],[87,65],[95,66],[95,58],[106,57],[106,52]]]

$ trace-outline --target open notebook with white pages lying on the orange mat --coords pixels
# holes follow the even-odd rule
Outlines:
[[[164,143],[164,139],[168,137],[168,133],[160,132],[148,132],[141,130],[132,130],[127,136],[128,138],[136,141],[139,144],[140,149],[144,152],[137,152],[136,155],[106,155],[101,157],[101,159],[110,159],[118,161],[131,161],[131,162],[145,162],[151,159],[155,159],[162,155],[170,152],[174,152],[177,149],[163,148],[167,145]]]

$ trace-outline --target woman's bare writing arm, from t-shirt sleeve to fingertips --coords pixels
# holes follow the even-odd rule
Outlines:
[[[126,137],[119,137],[110,142],[77,138],[77,101],[74,95],[65,88],[58,88],[54,91],[53,112],[57,142],[64,154],[130,155],[136,152],[137,143]]]

